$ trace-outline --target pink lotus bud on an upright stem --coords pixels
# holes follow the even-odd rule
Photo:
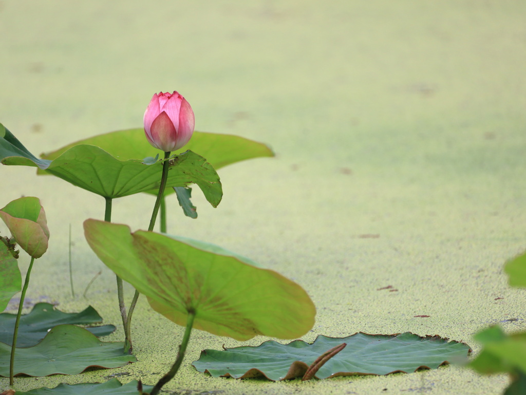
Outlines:
[[[159,93],[151,98],[144,113],[144,133],[148,142],[164,152],[188,143],[194,133],[192,108],[179,93]]]

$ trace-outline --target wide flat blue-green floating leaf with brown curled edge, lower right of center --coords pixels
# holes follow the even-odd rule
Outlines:
[[[437,369],[452,360],[466,360],[469,346],[438,336],[420,337],[406,332],[397,335],[355,333],[345,338],[318,336],[309,344],[295,340],[287,345],[270,340],[257,347],[204,350],[192,364],[213,377],[237,379],[264,376],[290,380],[304,376],[308,367],[328,350],[346,343],[316,373],[318,379],[357,374],[384,375]]]

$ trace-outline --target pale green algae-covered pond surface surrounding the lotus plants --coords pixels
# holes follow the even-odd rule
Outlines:
[[[0,121],[33,153],[49,152],[140,127],[153,93],[178,90],[197,130],[262,141],[276,158],[220,169],[217,208],[195,188],[196,220],[168,198],[168,232],[236,251],[299,283],[318,309],[306,341],[410,331],[468,342],[476,354],[472,335],[480,329],[524,330],[526,296],[508,286],[503,264],[526,248],[525,12],[517,0],[4,0]],[[0,170],[0,206],[39,197],[53,235],[28,301],[70,312],[92,305],[104,323],[120,322],[115,276],[82,231],[86,218],[103,219],[104,199],[32,168]],[[113,219],[145,228],[153,204],[146,194],[118,199]],[[70,296],[69,223],[77,293],[102,270],[86,299]],[[119,330],[103,340],[122,339]],[[183,328],[139,299],[133,331],[137,363],[18,377],[15,388],[114,377],[153,384],[175,359]],[[269,383],[215,379],[190,365],[202,349],[265,340],[195,331],[166,389],[469,395],[500,394],[508,384],[458,366]],[[0,388],[7,383],[0,379]]]

